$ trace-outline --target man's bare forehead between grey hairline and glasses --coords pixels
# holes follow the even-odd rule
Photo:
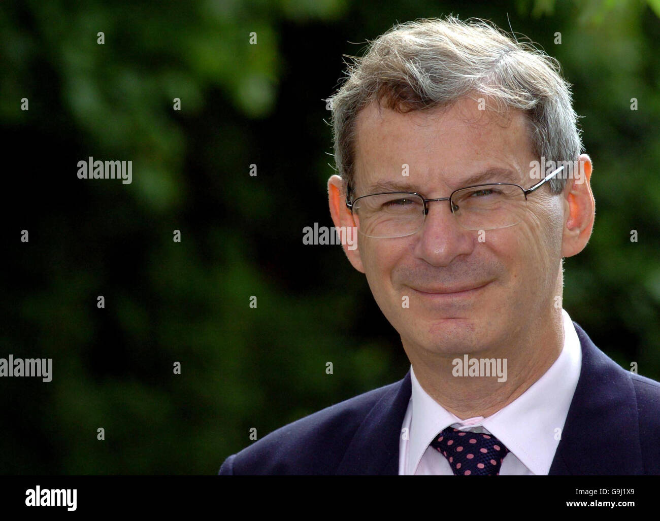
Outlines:
[[[519,181],[535,159],[529,119],[521,111],[480,110],[477,100],[399,113],[375,102],[356,117],[354,184],[382,181],[411,183],[438,176],[447,185],[464,173],[491,168],[518,171]],[[408,177],[402,171],[408,166]]]

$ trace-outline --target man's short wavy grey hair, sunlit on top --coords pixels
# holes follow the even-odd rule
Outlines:
[[[583,151],[570,84],[562,79],[559,62],[486,20],[448,16],[397,24],[371,42],[364,57],[353,59],[346,81],[326,100],[345,190],[355,187],[355,120],[374,100],[406,113],[449,107],[476,93],[494,102],[489,108],[523,111],[533,150],[546,162],[575,162]],[[562,173],[548,182],[552,194],[566,185]]]

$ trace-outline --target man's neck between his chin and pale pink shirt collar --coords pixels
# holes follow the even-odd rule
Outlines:
[[[543,326],[539,328],[539,324]],[[472,367],[465,367],[463,354],[441,356],[409,349],[406,352],[415,377],[428,395],[460,419],[468,419],[488,417],[513,402],[546,373],[563,346],[562,310],[552,309],[547,319],[535,318],[517,338],[505,338],[496,348],[468,353],[468,359],[477,359],[477,363],[482,359],[500,359],[500,366],[489,366],[493,368],[502,367],[506,361],[505,381],[495,371],[491,371],[491,376],[478,373],[479,377],[471,377],[480,365],[475,367],[473,362],[469,364]],[[457,377],[459,371],[467,377]]]

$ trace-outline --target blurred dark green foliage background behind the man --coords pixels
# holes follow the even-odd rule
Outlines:
[[[364,276],[302,230],[332,225],[342,55],[450,13],[562,63],[596,200],[564,308],[660,379],[660,2],[3,2],[0,357],[51,357],[53,380],[0,379],[1,473],[215,474],[249,429],[405,375]],[[88,156],[133,182],[77,179]]]

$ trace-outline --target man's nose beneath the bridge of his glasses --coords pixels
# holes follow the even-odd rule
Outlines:
[[[418,231],[415,254],[432,266],[448,266],[458,255],[469,255],[474,249],[474,232],[461,228],[449,200],[430,200],[424,226]]]

